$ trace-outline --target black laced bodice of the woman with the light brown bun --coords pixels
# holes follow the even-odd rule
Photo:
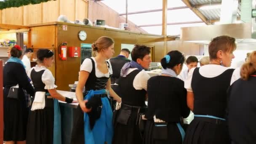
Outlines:
[[[91,58],[90,58],[91,59]],[[90,91],[90,90],[101,90],[101,89],[106,89],[107,81],[109,80],[109,77],[96,77],[96,72],[95,72],[95,63],[93,59],[91,59],[91,62],[93,64],[93,68],[91,70],[91,73],[85,83],[85,90]],[[107,65],[109,67],[108,61]]]

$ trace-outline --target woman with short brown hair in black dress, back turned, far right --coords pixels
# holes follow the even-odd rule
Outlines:
[[[184,144],[229,144],[226,122],[227,89],[236,80],[229,69],[235,56],[235,38],[219,36],[209,44],[210,64],[191,69],[185,80],[187,105],[195,118]]]

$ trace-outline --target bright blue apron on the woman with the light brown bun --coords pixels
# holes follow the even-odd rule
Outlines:
[[[90,90],[88,94],[85,96],[86,99],[91,99],[94,94],[104,94],[106,93],[105,89],[102,90]],[[101,117],[96,120],[93,129],[90,128],[89,116],[85,112],[84,113],[84,136],[85,136],[85,144],[104,144],[106,141],[108,144],[112,144],[113,137],[113,125],[112,125],[112,116],[113,112],[109,105],[109,100],[107,97],[101,98],[102,109],[101,109]]]

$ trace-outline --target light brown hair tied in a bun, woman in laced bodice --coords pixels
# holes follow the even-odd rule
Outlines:
[[[101,51],[103,50],[104,48],[108,48],[110,47],[114,42],[114,40],[110,37],[100,37],[98,38],[98,40],[96,40],[96,42],[94,42],[92,45],[91,45],[91,48],[93,49],[93,51]]]

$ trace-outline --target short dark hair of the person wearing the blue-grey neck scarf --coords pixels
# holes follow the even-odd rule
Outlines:
[[[150,53],[150,48],[146,45],[134,45],[131,51],[131,59],[137,61],[137,59],[143,59],[144,56]]]

